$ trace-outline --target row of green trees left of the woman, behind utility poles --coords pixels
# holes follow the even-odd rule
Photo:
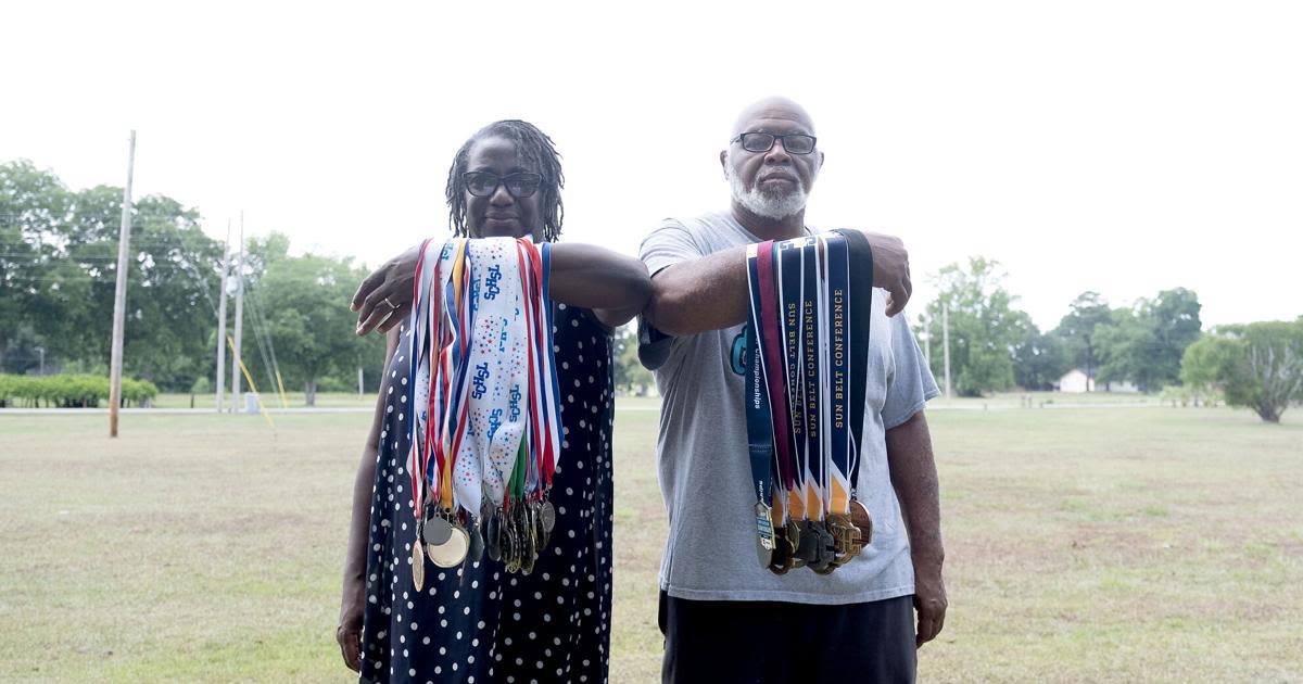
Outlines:
[[[108,185],[69,189],[27,160],[0,164],[0,373],[107,377],[121,198]],[[198,210],[165,195],[136,199],[132,216],[124,374],[165,392],[207,390],[224,245]],[[278,384],[274,367],[309,403],[318,390],[356,388],[358,367],[378,387],[384,343],[358,339],[348,310],[362,266],[292,255],[271,233],[249,242],[238,271],[242,357],[263,391]]]

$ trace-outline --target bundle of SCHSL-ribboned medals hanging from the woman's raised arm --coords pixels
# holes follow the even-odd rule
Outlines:
[[[422,246],[407,387],[418,590],[426,556],[451,568],[487,554],[528,575],[556,524],[549,249],[509,237]]]

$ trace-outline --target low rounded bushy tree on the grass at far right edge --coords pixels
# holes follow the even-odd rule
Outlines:
[[[1278,423],[1291,403],[1303,400],[1303,317],[1220,327],[1186,349],[1181,377]]]

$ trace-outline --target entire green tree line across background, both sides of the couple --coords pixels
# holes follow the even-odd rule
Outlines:
[[[48,169],[0,164],[0,373],[108,374],[121,188],[69,189]],[[210,391],[224,245],[199,212],[165,195],[133,203],[124,373],[162,391]],[[317,391],[378,387],[383,340],[353,335],[348,301],[366,268],[349,258],[292,255],[280,233],[254,238],[238,263],[245,281],[244,361],[266,390],[276,370],[313,403]],[[1195,292],[1165,289],[1127,306],[1083,292],[1053,330],[1016,307],[1001,264],[984,257],[934,276],[938,296],[915,326],[943,378],[949,318],[954,391],[980,396],[1050,390],[1080,369],[1096,388],[1184,386],[1280,420],[1303,399],[1303,317],[1294,323],[1203,332]],[[228,313],[233,318],[233,307]],[[231,326],[228,326],[228,331]],[[632,328],[615,344],[616,384],[641,391]],[[265,390],[265,391],[266,391]]]

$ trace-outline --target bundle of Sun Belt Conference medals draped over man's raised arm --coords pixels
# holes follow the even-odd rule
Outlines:
[[[749,245],[747,440],[756,550],[829,575],[873,535],[856,499],[873,254],[857,231]]]

